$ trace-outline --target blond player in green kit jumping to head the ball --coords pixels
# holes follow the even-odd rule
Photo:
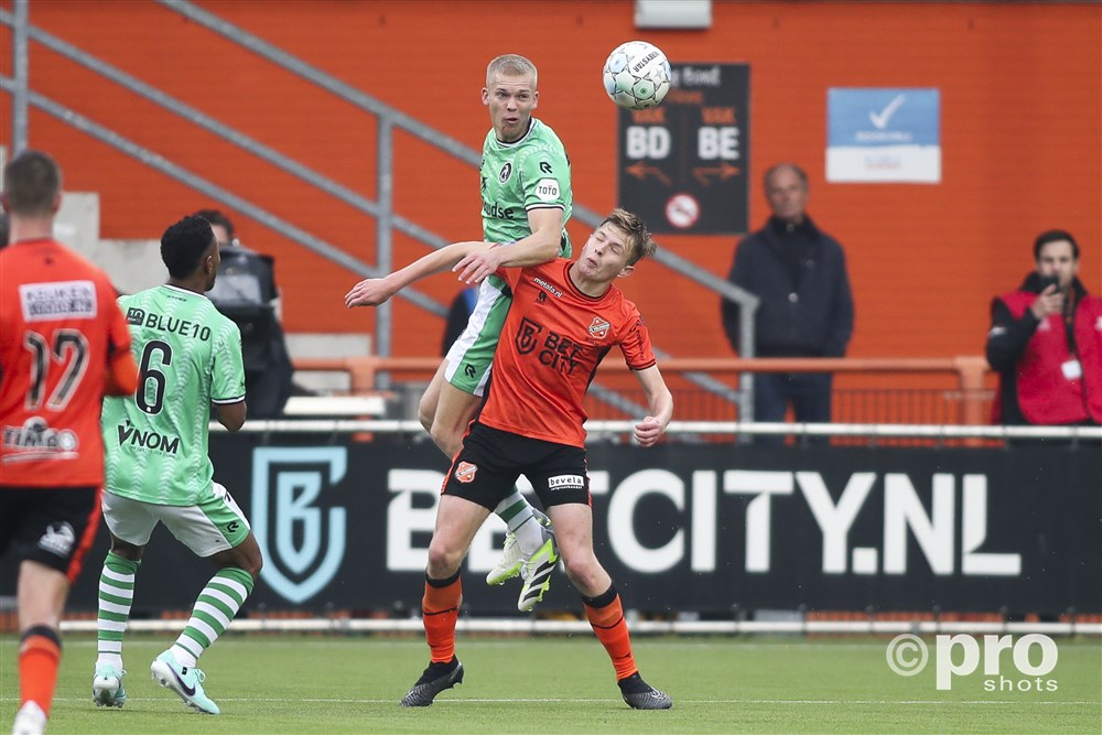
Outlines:
[[[571,255],[564,229],[572,207],[570,161],[554,131],[532,117],[539,102],[537,82],[536,65],[515,54],[498,56],[486,69],[482,99],[489,108],[493,129],[483,144],[479,172],[483,239],[508,247],[468,256],[454,269],[461,280],[480,284],[478,301],[419,408],[422,425],[449,458],[462,447],[463,434],[482,403],[512,298],[505,281],[491,273],[506,257],[510,266],[537,266]],[[345,303],[364,305],[357,302],[357,289],[375,280],[354,287]],[[393,285],[397,293],[406,284]],[[501,584],[519,574],[517,607],[528,612],[550,586],[559,559],[550,521],[519,490],[494,512],[506,522],[508,533],[501,559],[486,582]]]

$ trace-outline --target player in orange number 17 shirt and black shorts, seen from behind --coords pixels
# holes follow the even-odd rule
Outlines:
[[[15,734],[43,732],[50,716],[62,610],[99,525],[104,396],[138,387],[110,280],[53,239],[61,184],[61,169],[39,151],[4,167],[11,244],[0,250],[0,554],[14,545],[20,560]]]

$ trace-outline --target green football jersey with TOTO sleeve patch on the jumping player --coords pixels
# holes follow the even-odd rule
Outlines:
[[[512,242],[528,237],[530,210],[562,209],[560,255],[570,257],[565,229],[573,208],[570,159],[554,130],[532,118],[528,134],[512,143],[503,143],[490,130],[483,143],[480,177],[485,240]]]

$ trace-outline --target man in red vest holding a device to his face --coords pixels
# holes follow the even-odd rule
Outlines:
[[[1078,278],[1079,244],[1051,229],[1036,269],[991,303],[987,363],[998,371],[993,423],[1102,423],[1102,299]]]

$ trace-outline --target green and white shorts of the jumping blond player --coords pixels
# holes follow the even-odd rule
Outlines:
[[[482,396],[489,380],[497,349],[505,326],[505,317],[512,303],[508,284],[490,277],[478,287],[478,300],[467,320],[467,326],[447,350],[444,379],[471,396]]]

